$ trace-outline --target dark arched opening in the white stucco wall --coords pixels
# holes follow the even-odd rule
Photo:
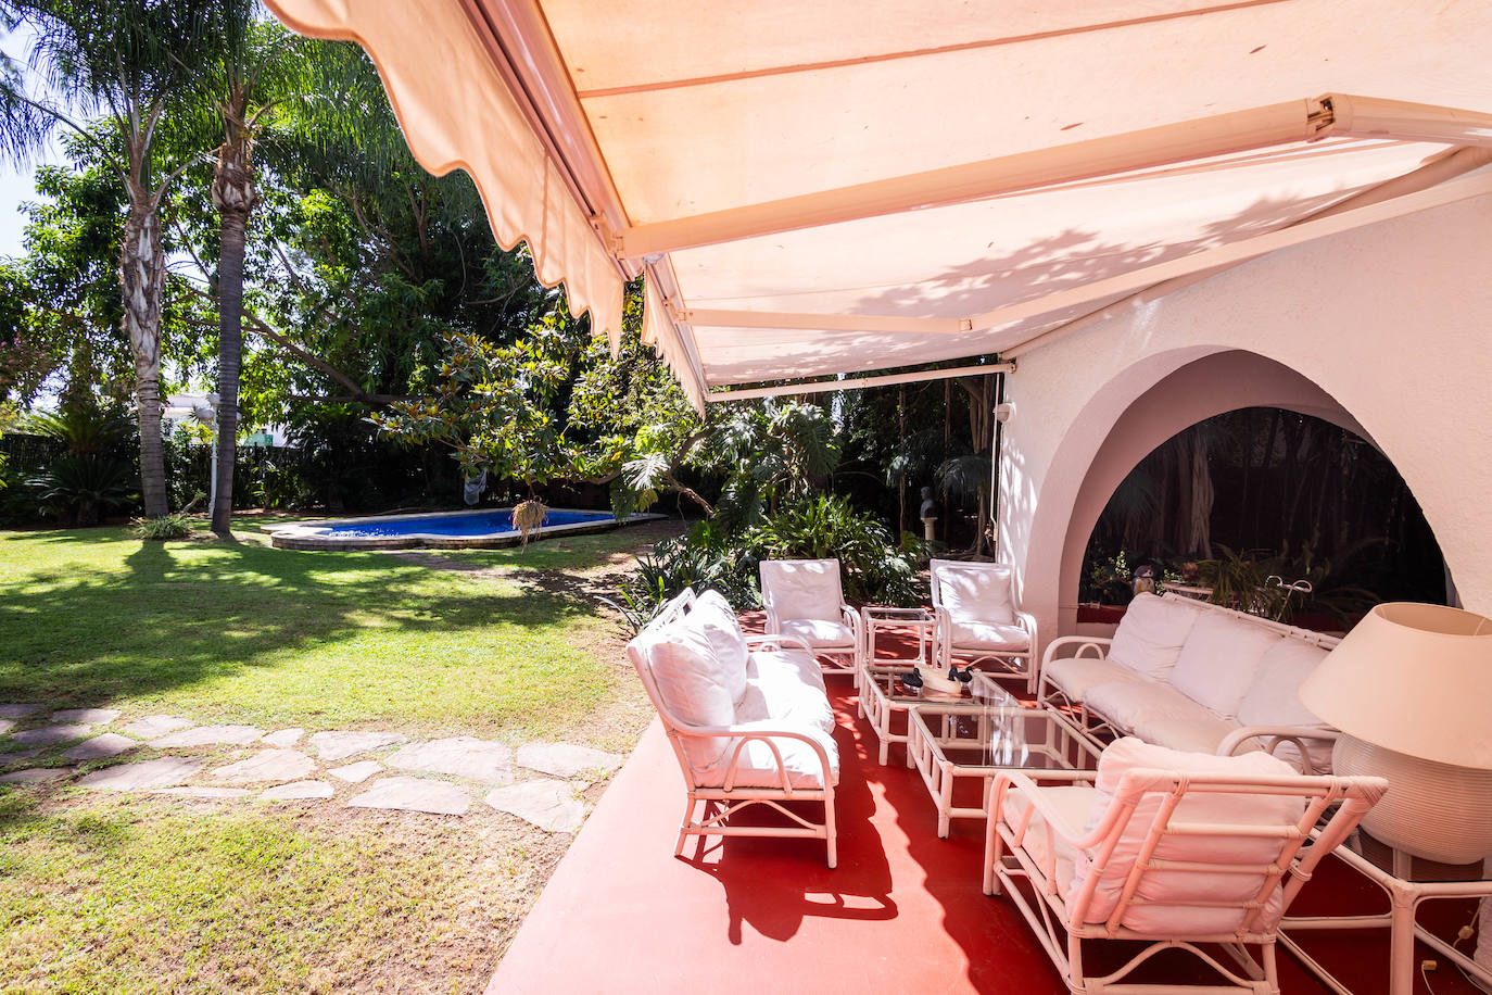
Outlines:
[[[1150,451],[1088,537],[1079,621],[1115,615],[1100,606],[1152,582],[1323,630],[1380,601],[1444,604],[1444,559],[1419,503],[1340,421],[1243,407]]]

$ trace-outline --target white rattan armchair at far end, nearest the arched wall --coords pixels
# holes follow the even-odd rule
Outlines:
[[[934,559],[934,646],[938,667],[992,662],[997,676],[1021,677],[1035,694],[1035,618],[1015,600],[1013,570],[1006,564]]]

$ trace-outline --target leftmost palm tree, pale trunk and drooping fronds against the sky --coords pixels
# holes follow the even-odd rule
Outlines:
[[[28,158],[58,127],[98,143],[98,133],[75,113],[103,115],[110,124],[109,158],[119,170],[127,209],[119,243],[124,331],[134,355],[134,397],[140,424],[140,492],[145,513],[166,515],[166,461],[161,446],[161,301],[166,254],[160,207],[189,158],[161,161],[163,121],[184,95],[186,66],[207,40],[200,0],[0,0],[7,28],[33,36],[27,58],[45,82],[30,94],[18,64],[0,72],[0,152]]]

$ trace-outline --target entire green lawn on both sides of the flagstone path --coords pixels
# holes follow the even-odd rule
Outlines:
[[[592,595],[673,527],[389,555],[269,549],[257,524],[0,533],[0,703],[622,752],[651,718]],[[457,819],[345,807],[357,791],[0,785],[0,992],[480,991],[570,837],[480,794]]]

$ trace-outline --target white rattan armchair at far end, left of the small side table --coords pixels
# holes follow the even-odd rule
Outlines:
[[[762,559],[761,601],[767,633],[803,640],[834,671],[858,673],[864,633],[844,604],[837,559]]]

